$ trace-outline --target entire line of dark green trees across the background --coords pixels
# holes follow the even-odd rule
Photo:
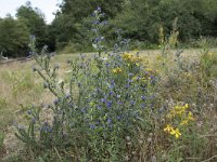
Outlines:
[[[178,18],[179,40],[188,43],[200,37],[217,37],[216,0],[63,0],[54,21],[47,25],[42,12],[29,2],[17,9],[16,17],[0,18],[0,52],[5,56],[28,55],[29,36],[36,45],[49,51],[90,51],[91,13],[100,6],[108,19],[103,36],[107,43],[116,40],[116,31],[132,42],[157,44],[159,28],[165,36]]]

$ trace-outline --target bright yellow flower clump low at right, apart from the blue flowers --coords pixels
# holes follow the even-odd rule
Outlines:
[[[176,138],[181,136],[180,130],[188,129],[190,122],[195,120],[188,104],[174,106],[166,114],[166,119],[169,124],[166,124],[164,132],[174,135]]]

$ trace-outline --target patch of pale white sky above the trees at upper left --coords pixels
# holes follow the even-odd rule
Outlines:
[[[8,13],[15,16],[16,9],[24,5],[27,0],[0,0],[0,17],[4,17]],[[49,24],[54,19],[52,14],[58,10],[56,4],[62,0],[29,0],[33,8],[38,8],[46,15],[46,22]]]

